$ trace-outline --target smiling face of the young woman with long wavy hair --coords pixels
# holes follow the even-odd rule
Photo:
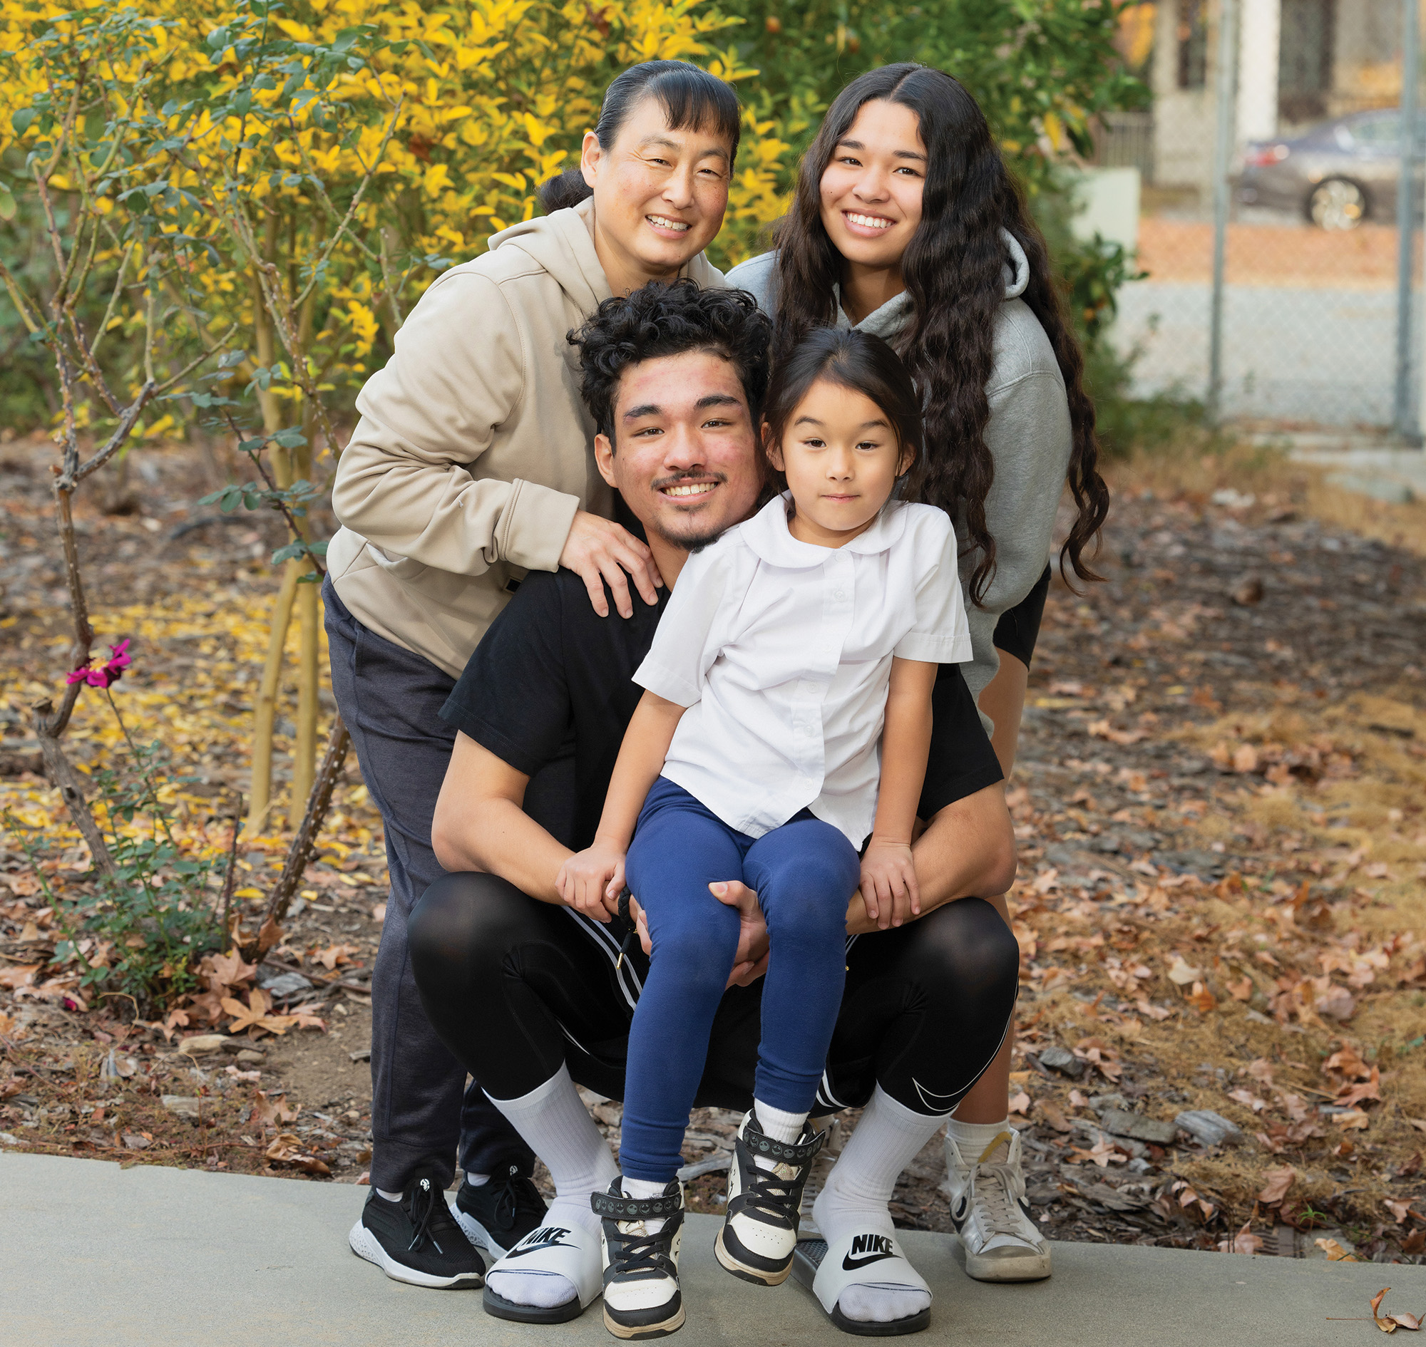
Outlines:
[[[821,174],[821,224],[853,265],[900,271],[921,224],[925,144],[921,120],[873,98],[831,151]]]

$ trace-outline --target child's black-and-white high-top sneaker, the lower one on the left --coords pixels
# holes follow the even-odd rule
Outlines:
[[[660,1197],[626,1197],[623,1180],[589,1199],[600,1219],[605,1263],[605,1327],[622,1338],[666,1337],[683,1327],[679,1243],[683,1187],[674,1179]],[[665,1217],[649,1233],[646,1222]]]

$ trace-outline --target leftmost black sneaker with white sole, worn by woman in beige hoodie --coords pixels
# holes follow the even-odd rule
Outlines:
[[[436,1290],[485,1286],[485,1263],[455,1223],[439,1182],[416,1176],[401,1202],[375,1189],[347,1242],[352,1253],[375,1263],[388,1277]]]

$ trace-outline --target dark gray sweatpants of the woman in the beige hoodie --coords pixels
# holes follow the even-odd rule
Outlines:
[[[455,1176],[533,1172],[535,1156],[426,1019],[406,954],[406,919],[445,871],[431,820],[455,730],[439,717],[452,680],[429,660],[364,627],[322,584],[332,693],[386,830],[391,897],[371,979],[371,1183],[405,1190],[418,1169]],[[462,1092],[465,1093],[462,1102]]]

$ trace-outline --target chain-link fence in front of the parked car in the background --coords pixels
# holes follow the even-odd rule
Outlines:
[[[1403,292],[1397,198],[1419,3],[1137,7],[1152,111],[1109,118],[1098,155],[1142,180],[1148,278],[1121,291],[1114,334],[1138,352],[1135,392],[1176,389],[1235,419],[1416,429],[1420,344],[1399,351],[1397,324],[1419,314],[1422,262],[1413,242]]]

